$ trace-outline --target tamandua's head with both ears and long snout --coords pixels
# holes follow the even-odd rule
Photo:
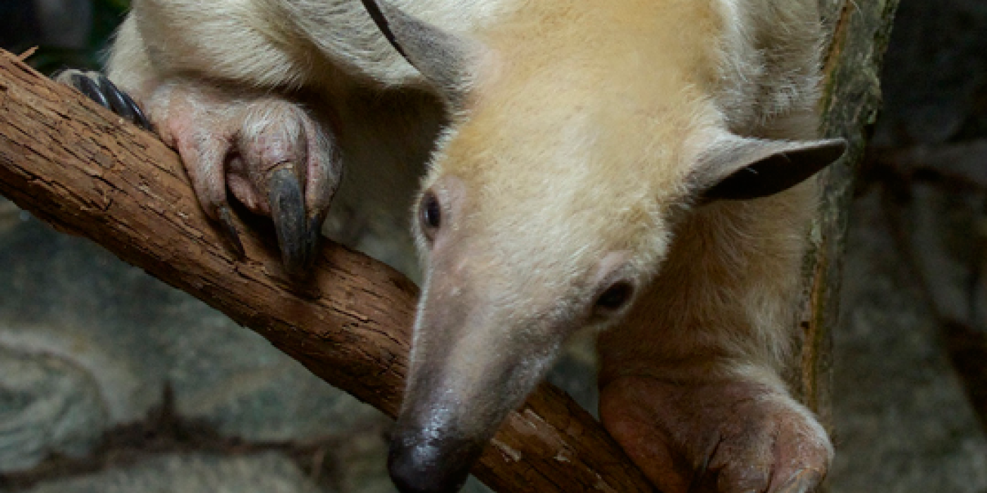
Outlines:
[[[424,284],[390,455],[405,492],[458,490],[569,336],[634,303],[690,208],[781,192],[845,147],[729,133],[716,49],[654,49],[661,33],[639,49],[647,26],[596,32],[599,13],[569,9],[466,38],[364,3],[452,121],[416,207]]]

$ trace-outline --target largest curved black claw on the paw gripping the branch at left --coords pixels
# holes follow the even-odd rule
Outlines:
[[[303,276],[314,260],[316,238],[307,224],[305,196],[298,177],[288,168],[271,173],[267,199],[284,268],[292,276]]]

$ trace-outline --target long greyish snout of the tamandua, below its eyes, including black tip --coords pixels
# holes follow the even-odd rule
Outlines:
[[[475,281],[469,270],[446,268],[451,263],[433,263],[418,307],[388,458],[402,493],[459,491],[504,417],[548,369],[564,333],[547,317],[518,315],[502,302],[506,295],[492,293],[489,286],[500,284]]]

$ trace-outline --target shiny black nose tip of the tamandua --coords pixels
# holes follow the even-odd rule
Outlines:
[[[391,442],[387,467],[401,493],[456,493],[481,452],[482,446],[469,441],[399,433]]]

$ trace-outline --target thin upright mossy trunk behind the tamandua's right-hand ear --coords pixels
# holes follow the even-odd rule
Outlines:
[[[832,426],[832,330],[839,317],[841,261],[846,244],[854,175],[864,155],[867,130],[880,108],[879,74],[898,0],[819,0],[829,32],[823,99],[823,134],[850,143],[847,157],[831,166],[806,258],[808,283],[802,329],[802,401]]]

